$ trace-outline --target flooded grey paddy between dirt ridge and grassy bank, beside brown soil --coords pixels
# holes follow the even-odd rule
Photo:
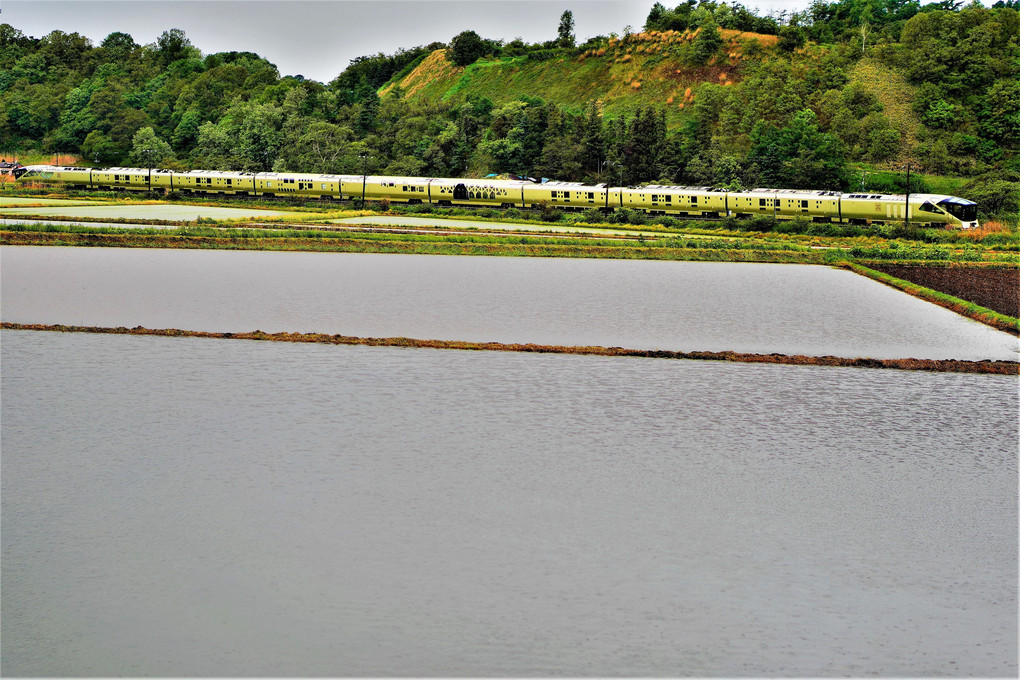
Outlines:
[[[99,248],[0,249],[24,323],[1013,359],[1017,338],[820,266]]]

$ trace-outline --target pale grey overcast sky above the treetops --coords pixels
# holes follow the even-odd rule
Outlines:
[[[542,42],[573,12],[578,42],[640,30],[655,0],[0,0],[0,22],[41,38],[79,33],[99,45],[131,34],[140,45],[181,29],[204,54],[255,52],[279,68],[322,83],[351,59],[400,48],[449,43],[462,31],[483,38]],[[664,0],[667,7],[679,0]],[[808,0],[745,0],[759,13],[797,10]]]

